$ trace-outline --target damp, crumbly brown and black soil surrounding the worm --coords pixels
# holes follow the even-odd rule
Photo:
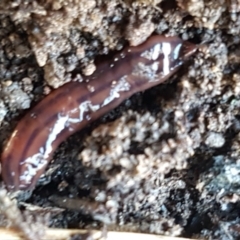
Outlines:
[[[201,45],[165,84],[63,142],[35,189],[14,195],[23,214],[58,228],[239,239],[239,1],[9,2],[0,2],[2,149],[29,108],[91,75],[100,56],[152,34]]]

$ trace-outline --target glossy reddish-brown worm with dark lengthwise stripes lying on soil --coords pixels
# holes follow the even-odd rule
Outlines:
[[[7,188],[32,189],[61,142],[134,93],[165,81],[196,49],[178,37],[152,36],[100,64],[84,81],[51,92],[21,119],[3,150]]]

